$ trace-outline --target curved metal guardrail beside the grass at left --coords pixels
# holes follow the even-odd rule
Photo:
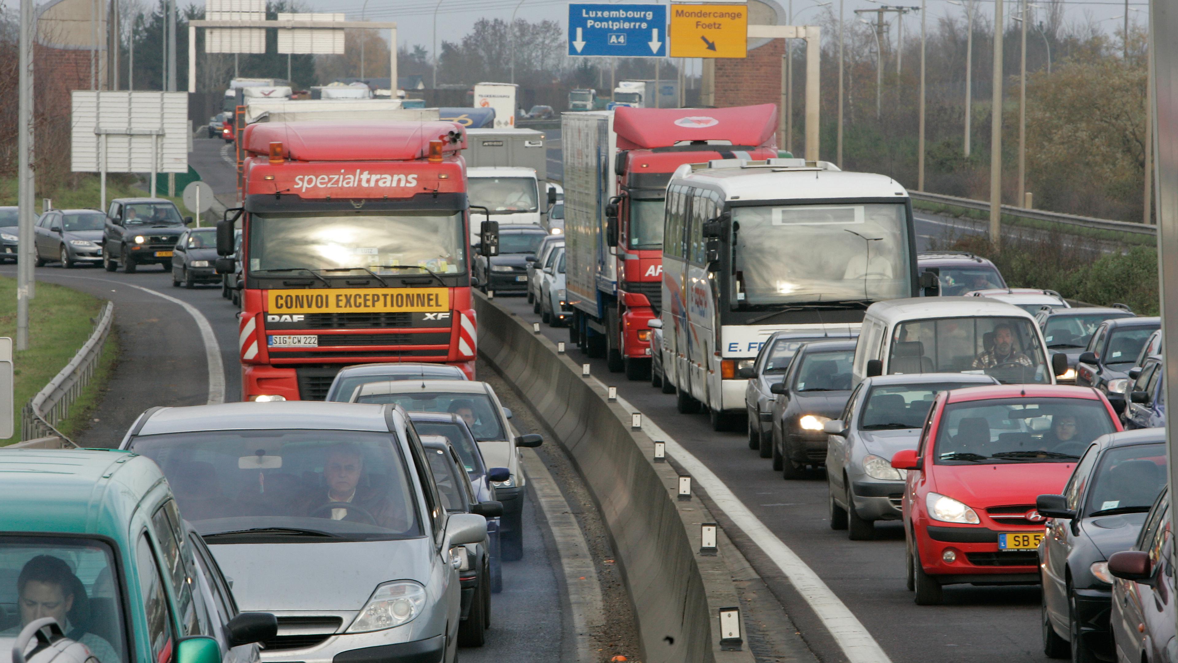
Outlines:
[[[22,441],[55,436],[62,440],[62,447],[77,446],[73,440],[57,429],[57,425],[68,416],[70,406],[90,385],[90,379],[94,375],[98,357],[102,354],[102,347],[106,344],[106,337],[111,333],[113,323],[114,304],[106,302],[98,323],[94,326],[94,332],[86,340],[86,343],[70,360],[70,363],[21,409],[20,439]]]

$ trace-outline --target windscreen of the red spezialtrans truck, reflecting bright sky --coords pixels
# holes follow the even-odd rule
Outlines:
[[[437,274],[466,271],[461,212],[256,214],[250,219],[249,245],[250,271],[344,268],[364,268],[377,274],[424,274],[424,269]]]

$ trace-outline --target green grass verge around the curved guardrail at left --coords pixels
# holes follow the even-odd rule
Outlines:
[[[0,277],[0,336],[16,336],[16,280]],[[15,353],[14,387],[15,414],[19,418],[25,405],[58,374],[94,330],[94,323],[102,310],[104,301],[62,285],[38,283],[37,296],[29,302],[29,348]],[[112,336],[113,337],[113,336]],[[74,406],[71,416],[62,422],[62,432],[78,431],[85,422],[87,409],[94,405],[94,394],[100,393],[110,378],[118,356],[118,343],[108,340],[102,352],[95,379],[91,381],[82,400],[87,407]],[[20,440],[16,434],[0,439],[0,446]]]

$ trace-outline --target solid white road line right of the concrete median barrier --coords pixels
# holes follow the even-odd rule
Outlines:
[[[605,388],[605,385],[601,380],[596,378],[594,380],[603,389]],[[638,412],[637,408],[621,396],[618,396],[617,402],[628,412]],[[798,593],[806,599],[806,603],[814,610],[818,618],[822,621],[822,625],[830,632],[830,637],[839,643],[839,648],[842,649],[842,652],[851,663],[891,663],[892,659],[884,652],[884,648],[867,632],[867,628],[863,626],[862,622],[855,617],[851,609],[822,582],[822,578],[807,566],[794,551],[789,550],[789,546],[779,539],[773,531],[766,527],[765,523],[761,523],[761,519],[754,516],[744,506],[744,503],[712,470],[708,470],[707,465],[680,446],[666,431],[651,424],[649,416],[642,418],[642,431],[653,440],[666,441],[667,454],[674,457],[691,474],[693,480],[699,481],[700,486],[708,492],[708,495],[716,503],[716,506],[741,531],[748,534],[748,538],[777,565],[777,569],[781,569],[781,572],[789,578],[790,584],[794,585]]]

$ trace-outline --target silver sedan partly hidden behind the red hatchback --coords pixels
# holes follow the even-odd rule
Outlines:
[[[874,537],[875,520],[899,520],[905,471],[892,467],[892,457],[916,448],[933,399],[948,389],[997,383],[990,375],[962,373],[863,380],[842,418],[826,424],[830,529],[863,540]]]

